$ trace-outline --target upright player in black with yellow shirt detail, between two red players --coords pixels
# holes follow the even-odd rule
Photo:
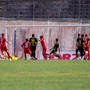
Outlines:
[[[30,50],[32,52],[31,57],[32,57],[32,59],[37,59],[36,58],[36,46],[37,46],[38,40],[37,40],[37,38],[35,38],[35,35],[32,34],[32,37],[29,39],[29,41],[31,44],[30,45]]]

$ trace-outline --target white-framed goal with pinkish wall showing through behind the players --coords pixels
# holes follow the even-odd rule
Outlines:
[[[11,34],[10,40],[12,40],[12,50],[14,55],[19,55],[22,49],[20,47],[24,39],[30,38],[31,34],[35,34],[38,38],[42,33],[44,35],[47,49],[49,50],[55,41],[55,38],[59,38],[61,51],[74,51],[75,50],[75,39],[78,33],[89,33],[90,24],[63,24],[63,25],[6,25],[6,36]],[[67,42],[65,44],[65,42]],[[37,52],[42,51],[40,43],[37,46]],[[39,54],[37,54],[37,57]]]

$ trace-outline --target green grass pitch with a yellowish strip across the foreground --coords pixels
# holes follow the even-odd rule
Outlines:
[[[0,90],[90,90],[90,61],[0,61]]]

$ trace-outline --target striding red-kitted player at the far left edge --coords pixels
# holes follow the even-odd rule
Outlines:
[[[6,40],[5,36],[4,36],[4,33],[2,33],[2,36],[0,37],[1,53],[2,53],[2,55],[4,56],[4,52],[6,52],[7,55],[8,55],[8,59],[10,59],[11,56],[10,56],[10,54],[9,54],[9,52],[8,52],[8,48],[7,48],[7,46],[6,46],[6,42],[7,42],[7,40]],[[8,42],[7,42],[7,43],[8,43]],[[9,44],[9,43],[8,43],[8,44]]]

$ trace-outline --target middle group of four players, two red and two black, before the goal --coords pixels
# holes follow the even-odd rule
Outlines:
[[[58,42],[57,38],[55,40],[55,44],[54,44],[53,48],[50,49],[51,52],[48,54],[46,52],[47,51],[47,46],[46,46],[43,35],[41,35],[39,37],[39,39],[37,39],[37,38],[35,38],[35,35],[32,34],[32,37],[29,40],[26,38],[26,41],[22,44],[22,47],[24,48],[25,59],[27,59],[26,54],[28,53],[28,54],[31,55],[31,59],[37,60],[35,53],[36,53],[36,47],[37,47],[38,41],[40,41],[41,46],[42,46],[42,55],[43,55],[44,60],[47,60],[47,58],[50,58],[52,53],[56,57],[59,57],[59,55],[56,54],[57,50],[58,49],[60,50],[59,42]]]

